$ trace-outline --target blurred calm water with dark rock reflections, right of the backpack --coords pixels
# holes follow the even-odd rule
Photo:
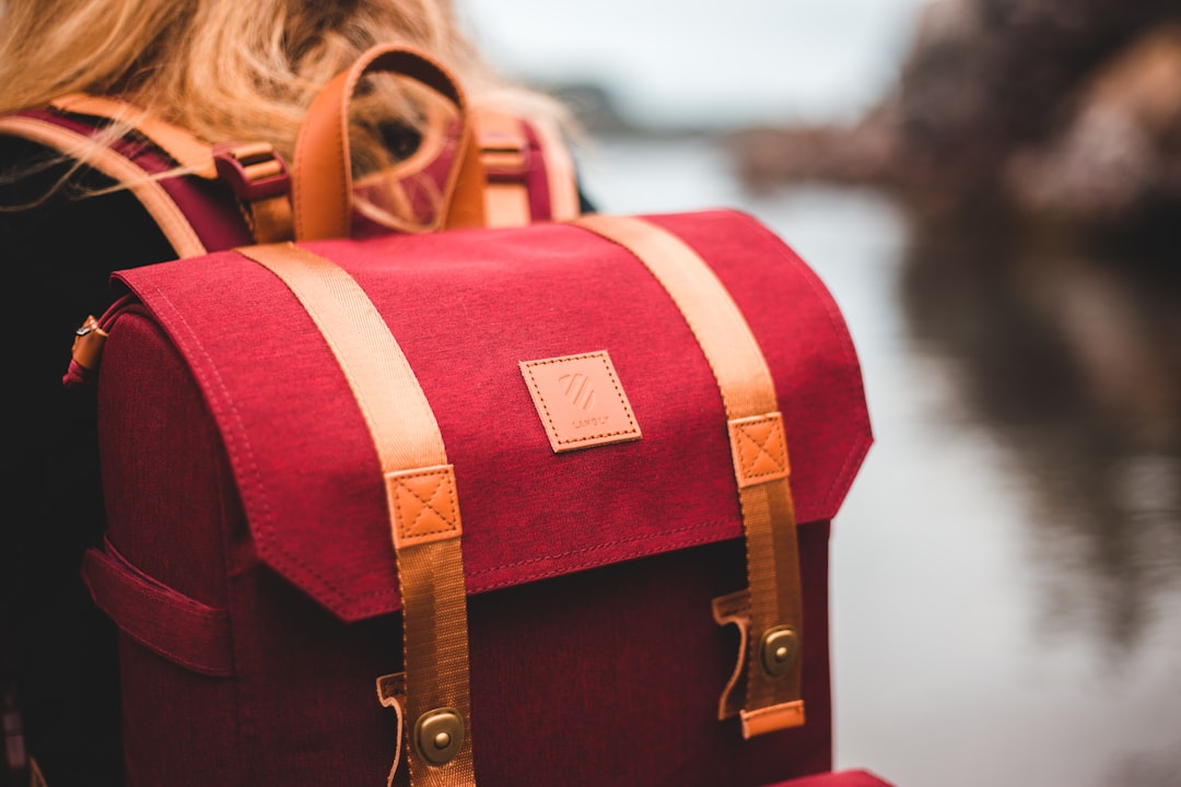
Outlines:
[[[870,191],[748,194],[705,139],[579,160],[605,211],[753,214],[844,313],[876,442],[834,526],[839,765],[1181,785],[1181,276],[927,237]]]

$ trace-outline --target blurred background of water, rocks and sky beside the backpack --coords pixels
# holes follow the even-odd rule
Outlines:
[[[1181,4],[456,4],[600,210],[746,210],[844,311],[839,767],[1181,785]]]

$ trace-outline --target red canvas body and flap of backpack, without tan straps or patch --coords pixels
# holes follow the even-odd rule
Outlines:
[[[309,244],[389,322],[456,467],[481,785],[756,787],[831,769],[828,520],[870,440],[856,356],[822,284],[753,219],[652,221],[746,314],[791,450],[808,723],[750,741],[717,720],[737,634],[710,602],[745,585],[725,417],[642,265],[556,225]],[[116,320],[99,375],[119,555],[102,565],[168,589],[107,605],[126,635],[130,783],[384,783],[398,742],[374,680],[400,669],[394,556],[334,359],[236,255],[119,278],[143,304]],[[517,362],[599,349],[644,438],[555,455]],[[176,657],[197,645],[174,605],[228,619],[228,675]]]

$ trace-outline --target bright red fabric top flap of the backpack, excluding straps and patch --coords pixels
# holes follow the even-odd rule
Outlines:
[[[797,520],[830,519],[870,444],[831,297],[744,215],[651,221],[693,247],[738,303],[774,375]],[[624,249],[560,224],[305,245],[368,294],[435,412],[462,500],[469,592],[742,536],[710,367]],[[292,293],[236,253],[116,277],[190,366],[259,556],[341,619],[398,610],[372,439]],[[119,349],[118,322],[110,333],[104,358],[135,352]],[[609,356],[642,437],[555,453],[521,365],[595,353]]]

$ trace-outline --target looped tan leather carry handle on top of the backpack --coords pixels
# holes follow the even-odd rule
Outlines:
[[[484,219],[484,178],[466,99],[458,81],[425,53],[400,45],[367,50],[347,71],[337,74],[317,94],[295,140],[292,197],[295,238],[308,241],[352,234],[353,177],[348,150],[348,107],[365,74],[409,77],[455,104],[458,138],[444,184],[442,204],[425,224],[405,222],[392,229],[431,231],[476,227]]]

